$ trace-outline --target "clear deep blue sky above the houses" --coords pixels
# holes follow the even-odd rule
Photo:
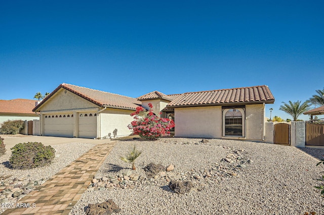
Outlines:
[[[1,1],[0,99],[59,84],[138,97],[268,85],[266,116],[324,88],[324,1]],[[301,119],[306,119],[303,116]]]

